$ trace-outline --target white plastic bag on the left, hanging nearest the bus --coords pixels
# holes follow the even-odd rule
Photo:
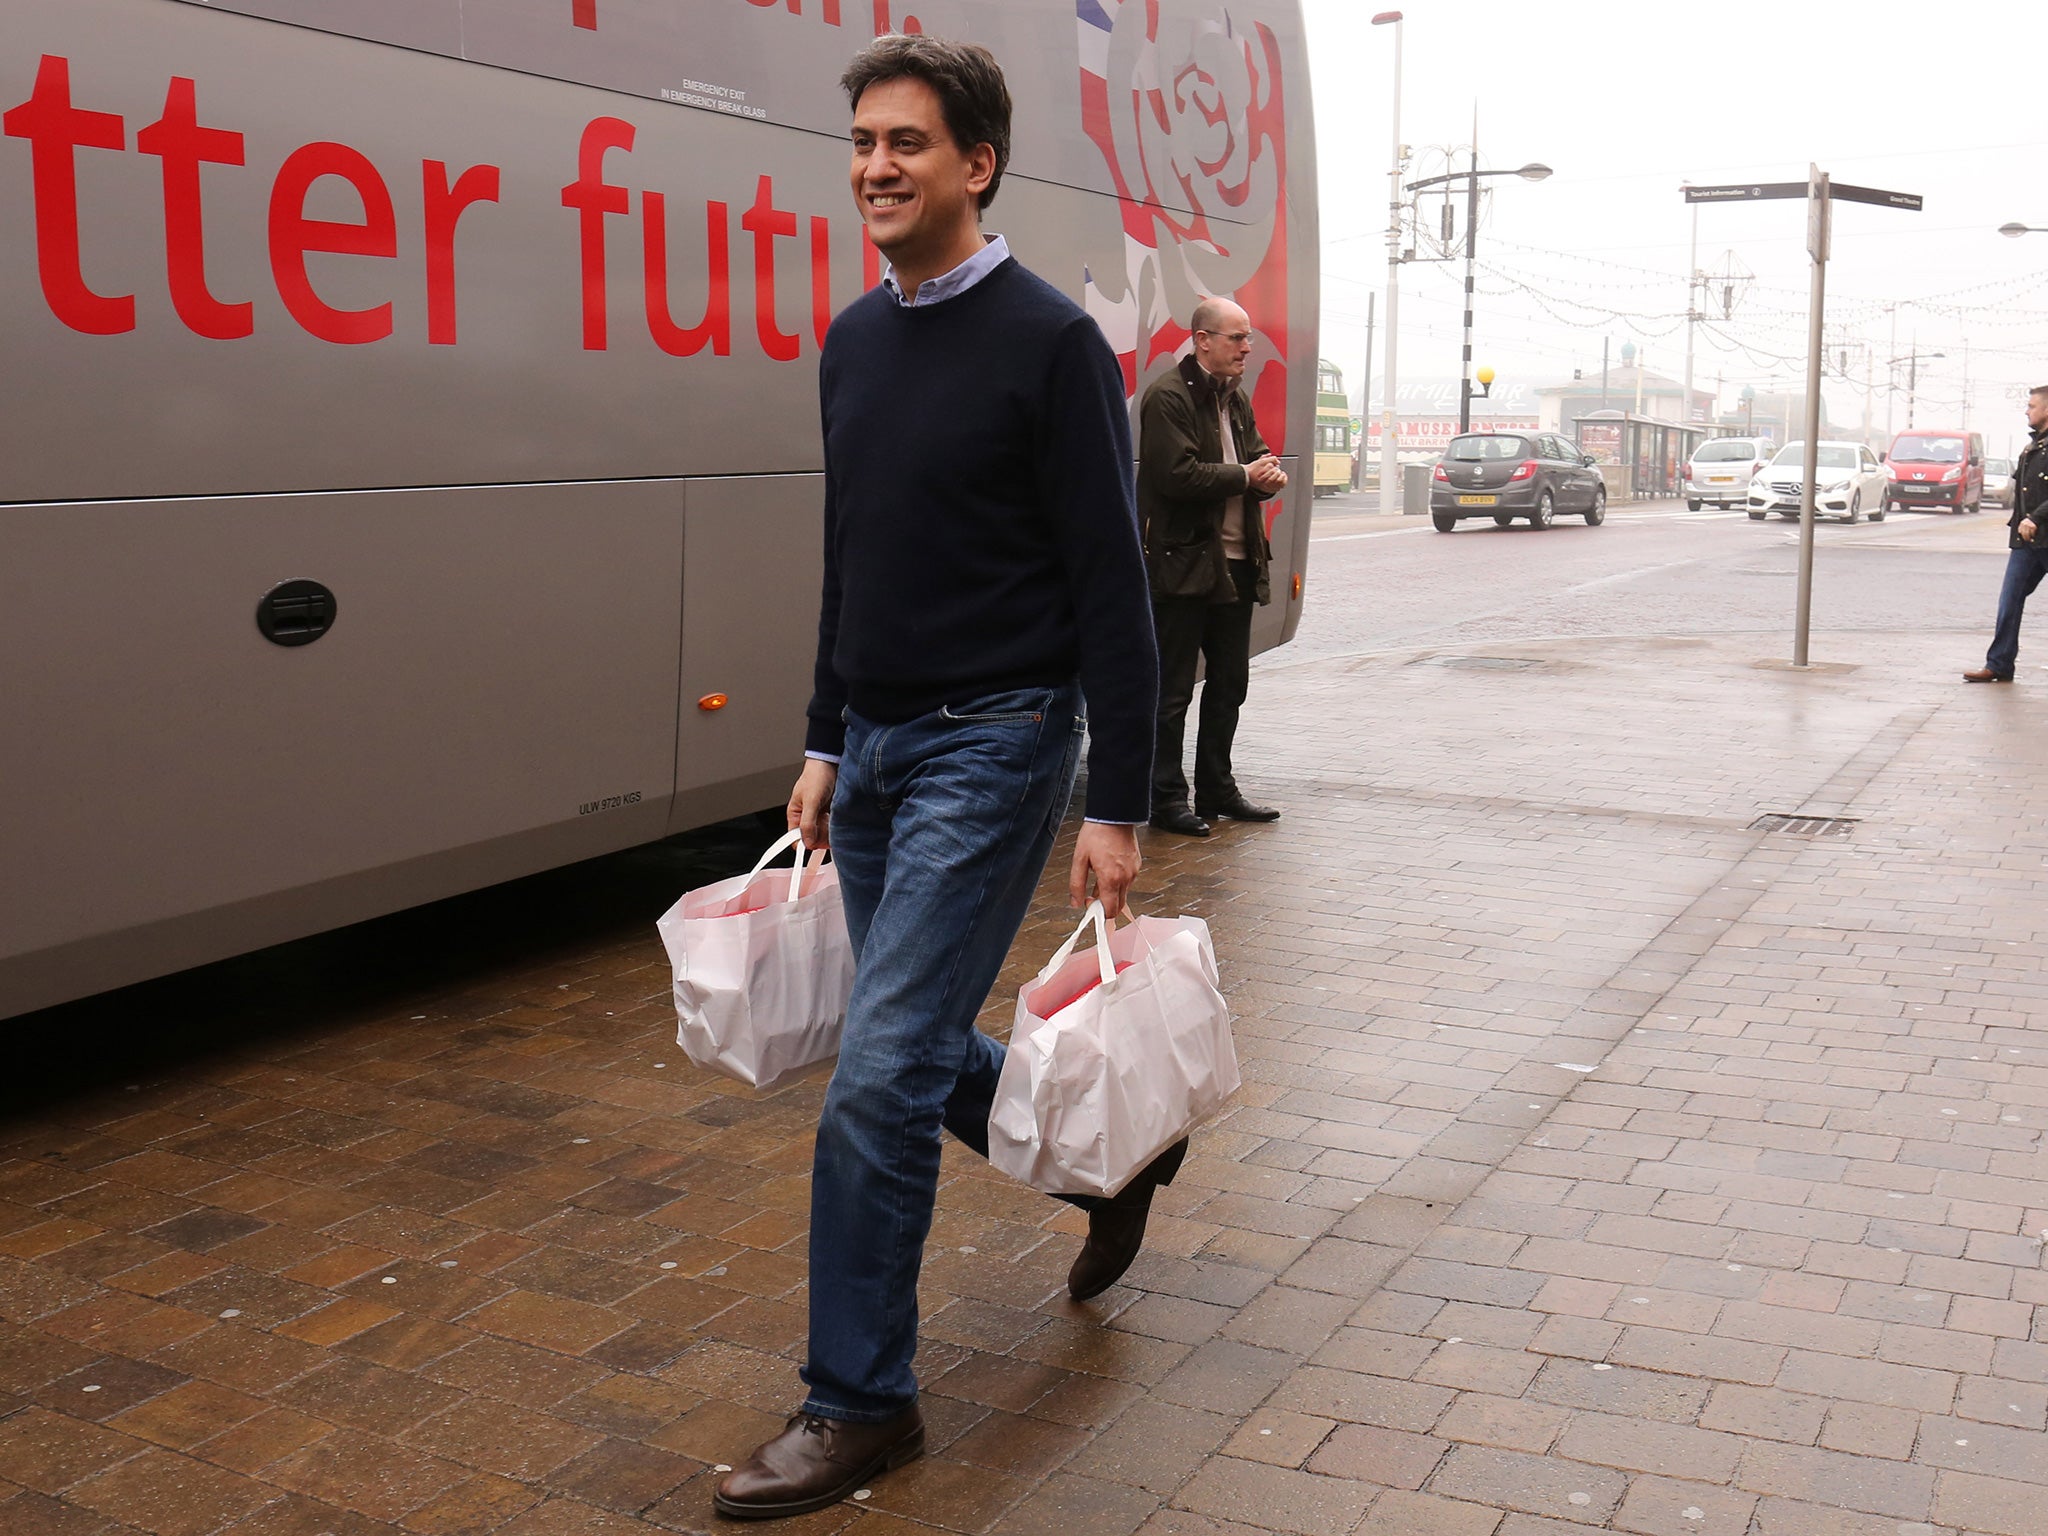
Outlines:
[[[797,866],[768,860],[797,848]],[[791,831],[745,874],[690,891],[657,928],[676,969],[676,1042],[698,1067],[780,1087],[840,1053],[854,948],[840,872]]]

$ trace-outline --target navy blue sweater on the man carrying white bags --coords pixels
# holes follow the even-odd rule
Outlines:
[[[1059,289],[1001,262],[952,299],[872,289],[825,336],[825,594],[811,752],[1079,678],[1087,815],[1151,813],[1159,664],[1122,371]]]

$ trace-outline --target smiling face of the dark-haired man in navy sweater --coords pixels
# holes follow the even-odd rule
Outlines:
[[[860,92],[854,106],[854,205],[874,248],[899,272],[936,276],[981,244],[979,197],[995,150],[963,150],[946,129],[938,92],[899,76]],[[946,260],[952,252],[965,252]]]

